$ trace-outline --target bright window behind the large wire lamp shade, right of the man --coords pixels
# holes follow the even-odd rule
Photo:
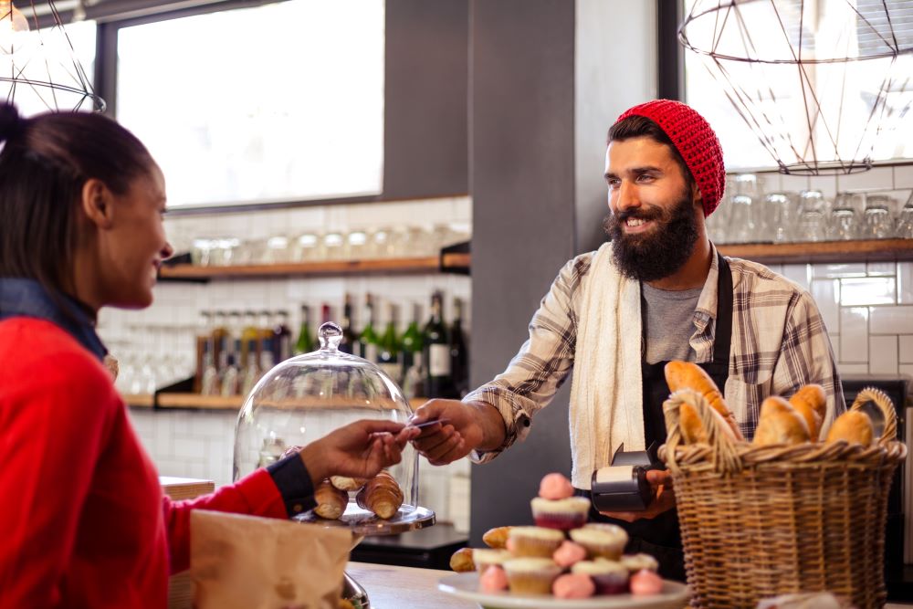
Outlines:
[[[713,124],[728,168],[771,166],[773,153],[796,166],[812,153],[819,161],[913,158],[913,121],[907,116],[913,100],[913,3],[888,3],[890,22],[881,0],[740,2],[729,13],[729,6],[713,12],[721,4],[686,0],[686,16],[708,11],[687,24],[692,44],[723,56],[784,62],[723,58],[715,64],[685,51],[686,100]],[[891,47],[900,53],[808,64],[801,73],[790,63],[800,39],[803,58],[873,57]],[[759,131],[768,138],[766,149]]]

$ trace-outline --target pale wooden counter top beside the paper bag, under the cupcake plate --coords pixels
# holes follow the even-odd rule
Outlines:
[[[371,601],[371,609],[400,609],[401,607],[434,607],[434,609],[477,609],[478,605],[456,598],[437,589],[437,581],[450,571],[394,567],[386,564],[350,562],[346,567],[356,582],[362,585]],[[888,603],[885,609],[903,609],[913,604]]]

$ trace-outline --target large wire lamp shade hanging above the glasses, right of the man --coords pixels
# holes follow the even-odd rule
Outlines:
[[[782,173],[894,156],[913,100],[913,0],[697,0],[678,39],[703,58]]]

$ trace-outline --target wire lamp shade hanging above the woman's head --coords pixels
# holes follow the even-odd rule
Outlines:
[[[26,115],[105,110],[52,0],[0,0],[0,91]]]

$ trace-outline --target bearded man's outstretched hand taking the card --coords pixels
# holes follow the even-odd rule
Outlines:
[[[422,427],[412,444],[434,466],[452,463],[476,448],[492,449],[504,442],[504,420],[490,404],[429,400],[415,411],[409,423],[429,421],[440,423]]]

